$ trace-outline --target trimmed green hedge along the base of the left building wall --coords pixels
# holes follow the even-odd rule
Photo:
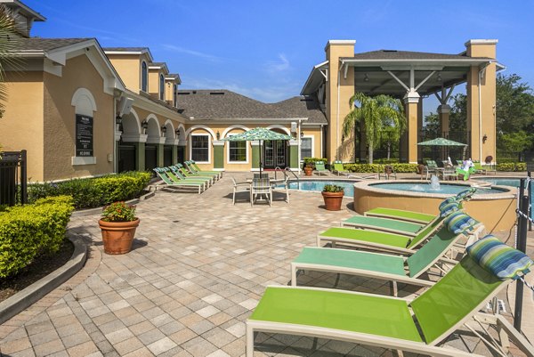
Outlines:
[[[68,195],[74,199],[76,209],[106,206],[112,202],[139,197],[149,184],[150,177],[149,173],[135,171],[61,183],[34,183],[28,185],[28,202]]]

